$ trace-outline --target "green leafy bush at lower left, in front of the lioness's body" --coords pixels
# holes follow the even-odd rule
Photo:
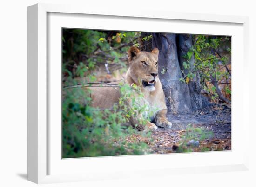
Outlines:
[[[66,88],[62,100],[63,158],[88,156],[135,155],[149,153],[144,142],[128,143],[126,137],[140,134],[148,137],[150,133],[141,133],[127,126],[130,116],[150,113],[150,109],[141,106],[142,95],[135,97],[139,90],[124,84],[120,88],[122,97],[119,104],[111,109],[101,110],[91,107],[90,89]],[[132,99],[132,105],[125,102]],[[141,118],[144,125],[147,118]]]

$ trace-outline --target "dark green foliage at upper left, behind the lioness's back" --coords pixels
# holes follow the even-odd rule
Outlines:
[[[128,47],[138,45],[139,32],[110,32],[82,29],[62,30],[62,57],[67,72],[86,66],[89,73],[99,64],[119,64],[126,69]],[[81,77],[81,74],[74,75]]]

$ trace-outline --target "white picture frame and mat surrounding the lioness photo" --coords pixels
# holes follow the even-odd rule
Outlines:
[[[64,18],[65,23],[63,20],[61,21]],[[90,21],[91,19],[93,21]],[[118,24],[112,25],[111,28],[113,30],[133,30],[132,27],[128,27],[131,21],[137,27],[139,27],[140,23],[148,21],[156,25],[160,24],[157,26],[158,30],[150,30],[152,28],[146,26],[136,30],[198,33],[198,29],[205,26],[205,31],[200,33],[218,33],[220,35],[234,36],[234,40],[232,39],[232,151],[61,159],[60,126],[58,124],[56,125],[57,128],[54,128],[55,126],[49,125],[51,124],[51,120],[57,120],[57,123],[60,121],[60,118],[52,118],[53,115],[49,113],[49,110],[59,111],[61,101],[58,99],[58,95],[54,95],[54,93],[60,94],[59,91],[61,88],[60,84],[58,84],[61,80],[61,69],[58,71],[59,65],[61,64],[61,45],[59,45],[58,36],[61,37],[61,35],[58,34],[60,33],[61,27],[109,29],[104,22],[97,24],[97,21],[102,21],[103,19],[108,20],[106,21],[108,24],[111,23],[110,19],[115,20],[116,23],[118,22]],[[87,20],[87,22],[84,20]],[[127,25],[123,22],[126,22]],[[161,26],[162,23],[168,24],[168,26],[173,24],[173,28],[171,30],[168,26],[167,28],[163,28]],[[186,24],[190,26],[192,24],[194,27],[188,31],[186,30]],[[220,30],[220,28],[224,28],[225,30]],[[241,45],[243,46],[243,50],[241,50]],[[245,109],[249,108],[249,92],[236,86],[236,84],[240,84],[244,88],[249,88],[249,81],[241,84],[239,82],[241,80],[236,78],[238,77],[236,70],[243,71],[244,75],[249,71],[248,48],[248,17],[172,13],[147,9],[141,9],[140,12],[134,14],[129,10],[123,9],[85,8],[79,5],[36,4],[29,6],[28,180],[35,183],[53,183],[128,177],[136,178],[138,175],[140,177],[153,177],[160,173],[171,175],[174,173],[188,174],[248,170],[249,149],[246,148],[246,145],[249,145],[247,143],[249,142],[249,131],[246,129],[249,129],[250,124],[249,112],[246,112]],[[234,57],[236,58],[233,59]],[[58,63],[51,63],[53,60],[60,62],[59,65]],[[238,61],[240,61],[240,64],[238,64]],[[56,70],[54,74],[52,74],[53,70]],[[240,116],[238,117],[237,115]],[[60,112],[56,112],[56,116],[60,116]],[[239,133],[243,136],[243,149],[238,149],[241,145],[241,142],[236,141]],[[222,158],[222,161],[216,159],[219,157]],[[207,160],[211,162],[206,161],[206,159],[204,161],[204,158],[208,158]],[[215,159],[211,160],[211,158]],[[179,163],[179,159],[185,161]],[[168,160],[175,160],[175,162],[168,164]],[[157,161],[159,165],[149,167],[148,163],[150,161]],[[132,165],[132,163],[139,164]],[[65,169],[63,168],[66,168],[67,171],[64,171]]]

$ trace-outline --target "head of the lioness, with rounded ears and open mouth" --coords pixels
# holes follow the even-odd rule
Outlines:
[[[149,91],[155,90],[158,78],[158,49],[152,52],[142,52],[133,46],[128,50],[129,78],[141,87]]]

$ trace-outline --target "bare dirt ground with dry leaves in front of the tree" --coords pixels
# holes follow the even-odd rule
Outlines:
[[[192,151],[231,150],[231,107],[226,105],[205,108],[198,112],[179,115],[167,114],[172,122],[171,129],[158,128],[152,134],[153,143],[149,147],[155,153],[174,153],[178,150],[182,135],[186,133],[190,124],[193,128],[200,127],[204,131],[211,131],[207,137],[192,148]],[[186,148],[189,146],[186,145]],[[190,146],[191,147],[191,146]],[[207,148],[207,149],[206,149]]]

